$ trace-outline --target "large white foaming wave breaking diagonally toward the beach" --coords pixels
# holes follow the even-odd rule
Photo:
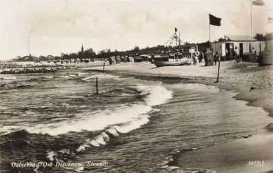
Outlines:
[[[172,98],[172,92],[161,85],[152,87],[140,86],[139,89],[143,91],[142,94],[147,94],[143,102],[139,101],[133,104],[122,105],[115,110],[105,109],[101,112],[79,117],[79,120],[72,119],[71,121],[35,125],[34,127],[26,128],[26,130],[30,133],[50,134],[52,136],[68,132],[81,132],[83,130],[105,130],[105,128],[109,129],[109,127],[112,127],[112,130],[108,133],[114,131],[119,133],[130,132],[149,121],[148,113],[154,109],[152,106],[165,103],[165,101]],[[101,135],[97,136],[97,143],[100,145],[104,143],[100,142],[101,139],[108,140],[107,135]],[[88,141],[87,143],[91,142]]]

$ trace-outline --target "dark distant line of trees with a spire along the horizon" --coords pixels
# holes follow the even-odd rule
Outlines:
[[[273,33],[270,33],[269,35],[272,35]],[[254,37],[255,41],[266,41],[267,36],[264,34],[259,34],[256,33]],[[219,43],[219,42],[225,42],[225,41],[236,41],[236,40],[230,40],[228,37],[224,38],[219,38],[218,41],[214,41],[213,43]],[[237,40],[238,41],[238,40]],[[247,40],[239,40],[239,41],[250,41],[249,39]],[[212,43],[212,44],[213,44]],[[180,44],[180,43],[179,43]],[[168,46],[168,45],[156,45],[154,47],[147,47],[147,48],[142,48],[140,49],[138,46],[136,46],[132,50],[126,50],[126,51],[118,51],[118,50],[110,50],[110,49],[105,49],[99,51],[97,54],[92,50],[92,48],[87,48],[84,49],[83,45],[81,45],[81,50],[79,52],[72,52],[70,54],[64,54],[61,53],[61,56],[53,56],[53,55],[47,55],[47,56],[39,56],[36,57],[32,54],[23,56],[23,57],[16,57],[10,61],[16,62],[28,62],[28,61],[34,61],[34,62],[39,62],[39,61],[48,61],[48,62],[89,62],[89,61],[95,61],[95,60],[106,60],[109,57],[114,57],[114,56],[130,56],[130,57],[139,57],[141,54],[147,55],[147,54],[162,54],[165,52],[183,52],[183,57],[188,57],[190,55],[190,48],[198,46],[199,50],[205,50],[207,48],[210,48],[210,41],[206,41],[203,43],[189,43],[185,42],[183,45],[179,45],[176,47]],[[213,48],[213,47],[212,47]],[[176,49],[176,50],[175,50]],[[178,50],[177,50],[178,49]],[[258,51],[257,53],[259,53]]]

